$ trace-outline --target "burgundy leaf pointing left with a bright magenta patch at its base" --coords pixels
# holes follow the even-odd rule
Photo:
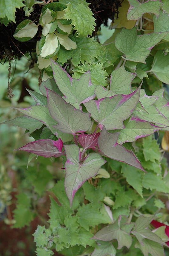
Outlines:
[[[18,148],[18,150],[24,150],[29,153],[36,154],[44,157],[59,157],[63,155],[62,152],[63,142],[59,140],[35,140],[25,146]]]

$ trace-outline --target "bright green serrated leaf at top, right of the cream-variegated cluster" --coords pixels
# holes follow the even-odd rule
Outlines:
[[[94,26],[95,19],[93,18],[93,13],[88,6],[84,4],[77,4],[76,8],[69,3],[65,9],[64,19],[71,19],[74,29],[77,30],[78,36],[88,36],[92,35],[92,31],[95,30]],[[84,22],[87,20],[87,22]]]

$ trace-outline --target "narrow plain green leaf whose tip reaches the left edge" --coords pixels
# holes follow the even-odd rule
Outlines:
[[[43,125],[42,122],[35,120],[33,118],[27,117],[27,116],[18,116],[12,120],[5,121],[4,123],[1,124],[13,124],[18,127],[24,128],[30,132],[34,132],[37,129],[40,129]]]

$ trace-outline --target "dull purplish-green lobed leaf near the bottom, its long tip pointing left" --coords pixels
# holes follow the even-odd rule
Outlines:
[[[98,231],[93,239],[102,241],[111,241],[116,239],[118,241],[117,249],[121,249],[123,246],[130,248],[132,244],[132,237],[130,231],[133,228],[134,223],[127,224],[126,216],[119,216],[113,224],[102,228]]]

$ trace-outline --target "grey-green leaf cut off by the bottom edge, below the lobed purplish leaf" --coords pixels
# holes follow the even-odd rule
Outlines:
[[[116,249],[113,244],[100,241],[91,256],[116,256]]]

